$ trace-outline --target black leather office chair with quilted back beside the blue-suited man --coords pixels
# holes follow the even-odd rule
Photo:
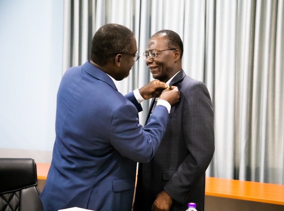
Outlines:
[[[31,158],[0,158],[0,210],[43,211]]]

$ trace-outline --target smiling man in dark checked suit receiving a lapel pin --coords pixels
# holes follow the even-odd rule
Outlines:
[[[205,171],[214,153],[214,114],[206,85],[182,69],[182,54],[180,36],[171,30],[155,33],[143,53],[153,78],[177,86],[180,100],[171,108],[156,154],[149,163],[139,163],[134,211],[186,210],[190,202],[204,210]],[[155,99],[148,117],[154,104]]]

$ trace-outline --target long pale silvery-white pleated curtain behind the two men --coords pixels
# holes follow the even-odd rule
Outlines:
[[[161,29],[184,43],[183,69],[203,81],[215,116],[207,176],[284,184],[284,0],[65,0],[63,72],[90,58],[106,23],[131,29],[138,53]],[[118,82],[125,94],[152,80],[145,61]],[[139,114],[145,121],[149,101]]]

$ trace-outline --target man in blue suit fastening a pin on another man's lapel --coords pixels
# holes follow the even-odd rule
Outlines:
[[[123,96],[114,80],[129,75],[139,58],[134,34],[118,24],[102,26],[92,40],[91,60],[69,68],[57,93],[56,139],[45,187],[45,211],[80,207],[131,210],[137,162],[154,156],[179,99],[153,81]],[[161,92],[161,89],[165,89]],[[140,102],[160,95],[144,128]]]

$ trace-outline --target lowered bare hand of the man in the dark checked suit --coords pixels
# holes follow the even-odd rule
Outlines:
[[[166,191],[161,191],[157,194],[151,211],[169,211],[172,206],[172,197]]]

